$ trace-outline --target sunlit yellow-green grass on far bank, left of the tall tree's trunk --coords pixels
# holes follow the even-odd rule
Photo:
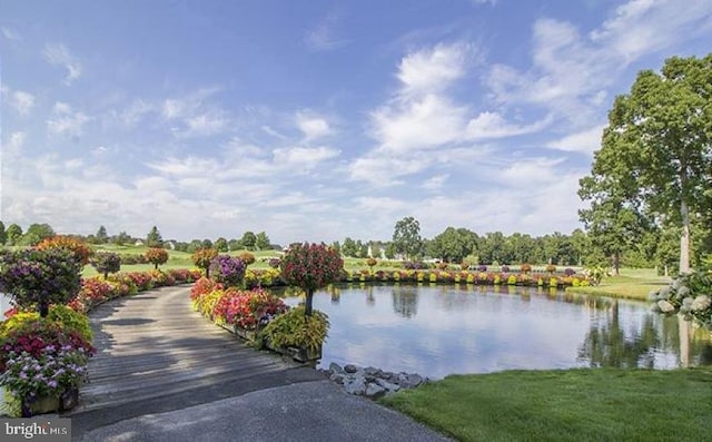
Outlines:
[[[647,301],[650,292],[669,283],[669,277],[657,276],[651,268],[622,268],[621,275],[605,277],[595,287],[567,287],[566,292]]]

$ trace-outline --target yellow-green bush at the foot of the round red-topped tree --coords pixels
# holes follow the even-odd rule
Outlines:
[[[328,334],[328,316],[314,311],[307,316],[304,306],[289,310],[267,324],[261,336],[278,347],[305,347],[317,351]]]

